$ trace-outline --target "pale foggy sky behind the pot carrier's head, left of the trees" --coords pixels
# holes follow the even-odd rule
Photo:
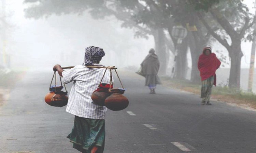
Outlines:
[[[54,64],[78,65],[83,63],[85,47],[98,46],[106,52],[102,64],[125,67],[139,65],[148,50],[154,47],[152,37],[134,39],[133,31],[120,28],[121,22],[114,17],[94,20],[85,12],[82,16],[70,14],[26,19],[23,17],[24,6],[15,2],[10,9],[14,8],[13,4],[17,7],[10,22],[17,28],[8,38],[13,41],[8,43],[8,51],[13,54],[12,65],[15,66],[48,69]],[[120,52],[124,55],[120,56]]]

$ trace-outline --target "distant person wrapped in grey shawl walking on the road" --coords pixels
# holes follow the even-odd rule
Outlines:
[[[161,81],[157,75],[160,67],[160,62],[153,48],[150,49],[149,54],[141,63],[141,67],[142,72],[145,74],[146,78],[145,86],[148,86],[148,88],[150,89],[150,94],[156,94],[156,85],[161,84]]]

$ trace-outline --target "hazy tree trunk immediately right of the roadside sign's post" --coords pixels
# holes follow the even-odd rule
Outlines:
[[[178,55],[176,60],[175,78],[186,79],[187,76],[187,49],[188,49],[188,38],[184,38],[182,44],[178,47]]]

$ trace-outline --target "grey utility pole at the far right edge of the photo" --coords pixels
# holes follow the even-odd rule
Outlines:
[[[256,0],[254,2],[254,8],[256,8]],[[256,15],[256,10],[255,10]],[[254,31],[256,31],[256,24],[254,24]],[[250,69],[249,69],[249,81],[248,81],[248,91],[252,92],[253,88],[253,73],[254,73],[254,60],[255,60],[255,49],[256,49],[256,42],[255,37],[253,38],[252,44],[252,51],[251,51],[251,62],[250,62]]]

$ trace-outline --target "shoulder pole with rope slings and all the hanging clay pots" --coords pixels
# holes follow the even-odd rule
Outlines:
[[[106,106],[107,108],[111,109],[112,111],[120,111],[125,109],[129,105],[128,99],[123,96],[125,88],[123,86],[123,83],[120,80],[120,77],[116,71],[116,67],[100,67],[100,66],[86,66],[88,68],[105,68],[104,74],[101,78],[100,84],[98,85],[99,88],[104,76],[106,74],[106,71],[109,69],[110,70],[110,87],[105,88],[104,92],[98,92],[95,90],[93,94],[91,95],[91,99],[95,102],[95,104],[100,105],[100,106]],[[73,68],[73,66],[70,67],[63,67],[62,69],[69,69]],[[111,89],[113,88],[113,76],[112,76],[112,70],[115,70],[116,75],[118,77],[118,80],[120,84],[122,85],[123,89],[117,88],[117,89]],[[53,79],[55,77],[55,86],[52,86]],[[62,81],[61,81],[61,76],[60,77],[60,84],[61,86],[57,87],[57,72],[54,71],[52,81],[49,87],[50,92],[45,96],[45,102],[51,106],[57,106],[57,107],[62,107],[67,105],[68,103],[68,97],[67,97],[67,88],[65,83],[63,83],[66,92],[61,91],[63,88],[62,86]],[[54,91],[55,89],[55,91]],[[98,99],[99,102],[97,102],[94,98]]]

